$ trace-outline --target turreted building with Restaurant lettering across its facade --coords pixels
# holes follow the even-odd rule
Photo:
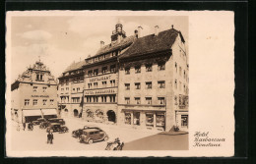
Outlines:
[[[87,121],[116,123],[118,97],[118,61],[120,54],[136,39],[126,37],[118,23],[112,31],[111,43],[100,48],[96,55],[86,59],[83,118]]]

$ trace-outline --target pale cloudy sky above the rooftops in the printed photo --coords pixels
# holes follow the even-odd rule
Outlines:
[[[126,35],[143,27],[142,36],[161,30],[180,30],[188,40],[188,17],[182,16],[20,16],[11,20],[12,81],[35,61],[42,61],[58,78],[73,62],[96,54],[100,40],[110,43],[117,22]]]

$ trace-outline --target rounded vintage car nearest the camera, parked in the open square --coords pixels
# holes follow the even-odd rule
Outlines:
[[[100,129],[96,128],[90,128],[83,130],[83,133],[81,137],[79,137],[80,142],[86,142],[86,143],[93,143],[94,141],[104,140],[106,141],[108,139],[108,136]]]

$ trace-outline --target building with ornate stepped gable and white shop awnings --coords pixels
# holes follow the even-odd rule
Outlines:
[[[55,118],[57,82],[46,66],[37,61],[11,85],[12,119],[29,123],[37,118]]]

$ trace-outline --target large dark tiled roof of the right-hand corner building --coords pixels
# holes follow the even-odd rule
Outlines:
[[[119,58],[123,59],[168,50],[179,33],[181,40],[185,42],[181,32],[174,28],[160,31],[157,36],[150,34],[140,37]]]

